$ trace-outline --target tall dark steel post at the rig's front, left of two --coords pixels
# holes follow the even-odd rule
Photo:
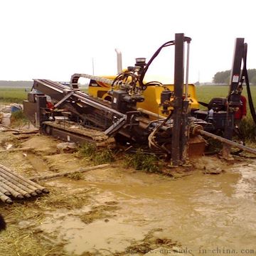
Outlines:
[[[184,80],[184,34],[175,34],[174,58],[174,128],[171,138],[171,163],[177,166],[181,163],[181,114]]]

